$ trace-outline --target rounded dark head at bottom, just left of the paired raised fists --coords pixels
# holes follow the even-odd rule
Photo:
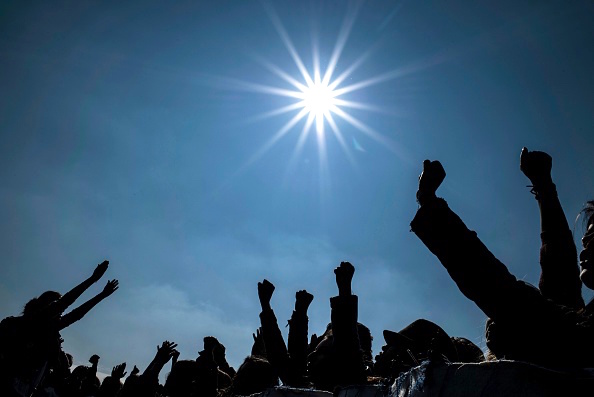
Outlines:
[[[249,396],[278,386],[278,376],[268,360],[247,356],[233,378],[233,394]]]

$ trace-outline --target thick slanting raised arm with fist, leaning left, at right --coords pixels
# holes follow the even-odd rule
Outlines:
[[[476,233],[435,192],[445,178],[439,161],[425,160],[412,231],[446,268],[460,291],[495,321],[521,318],[540,293],[509,273]]]

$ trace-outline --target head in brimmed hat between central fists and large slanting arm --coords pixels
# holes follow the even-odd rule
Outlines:
[[[400,332],[384,330],[384,339],[386,344],[375,357],[374,371],[386,378],[396,377],[430,357],[457,359],[448,334],[428,320],[416,320]]]

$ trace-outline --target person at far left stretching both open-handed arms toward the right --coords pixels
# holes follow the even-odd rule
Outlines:
[[[47,371],[59,365],[62,338],[60,331],[80,320],[97,303],[118,289],[111,280],[102,292],[70,313],[64,311],[107,271],[108,261],[85,281],[63,296],[47,291],[31,299],[19,317],[8,317],[0,323],[0,391],[4,395],[28,396],[37,389]]]

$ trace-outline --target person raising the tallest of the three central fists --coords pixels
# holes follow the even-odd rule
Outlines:
[[[355,268],[341,262],[334,269],[338,296],[330,298],[332,328],[308,356],[308,375],[317,389],[364,384],[369,374],[359,342],[358,298],[351,292]]]

